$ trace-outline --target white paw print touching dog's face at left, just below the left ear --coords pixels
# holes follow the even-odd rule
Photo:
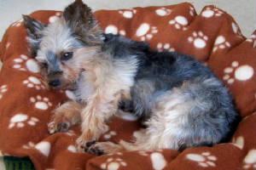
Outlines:
[[[34,59],[28,59],[24,54],[20,55],[20,58],[14,59],[15,65],[13,68],[19,71],[31,71],[33,73],[38,73],[40,71],[38,63]],[[26,68],[23,66],[26,65]]]

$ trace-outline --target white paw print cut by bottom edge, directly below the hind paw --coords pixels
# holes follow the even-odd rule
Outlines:
[[[119,157],[110,157],[106,162],[102,163],[101,168],[107,170],[117,170],[120,166],[126,167],[127,163]]]

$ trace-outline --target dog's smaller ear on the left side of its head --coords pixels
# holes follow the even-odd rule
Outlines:
[[[42,38],[42,31],[46,26],[44,23],[40,22],[39,20],[35,20],[28,15],[23,15],[24,26],[26,28],[26,32],[28,35],[28,42],[30,44],[30,53],[31,57],[35,57],[39,43]]]

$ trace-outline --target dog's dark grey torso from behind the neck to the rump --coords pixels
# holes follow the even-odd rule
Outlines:
[[[137,56],[131,100],[121,107],[142,116],[160,143],[169,140],[167,147],[182,150],[227,137],[237,113],[227,88],[207,66],[185,54],[150,50],[144,42],[107,37],[103,50],[113,59]]]

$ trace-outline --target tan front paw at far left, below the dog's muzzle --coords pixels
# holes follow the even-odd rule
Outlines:
[[[55,113],[51,116],[50,121],[48,123],[48,132],[59,133],[59,132],[67,132],[70,127],[70,122],[68,122],[67,117],[64,114]]]

